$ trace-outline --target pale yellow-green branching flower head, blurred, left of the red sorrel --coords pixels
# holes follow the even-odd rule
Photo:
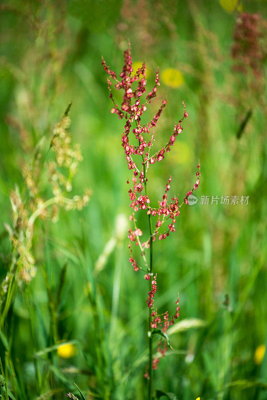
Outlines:
[[[12,225],[5,224],[5,227],[12,243],[12,257],[9,270],[0,285],[0,304],[14,276],[20,284],[29,282],[36,273],[35,260],[31,251],[35,221],[49,219],[56,222],[60,207],[66,210],[80,210],[90,199],[91,190],[89,189],[85,189],[82,195],[74,195],[72,198],[67,195],[72,190],[72,179],[82,160],[79,145],[71,145],[71,134],[68,131],[70,119],[67,116],[70,105],[71,103],[53,130],[49,150],[51,149],[55,154],[54,161],[47,163],[44,163],[44,160],[41,161],[44,138],[40,139],[30,162],[22,165],[23,195],[20,194],[18,186],[10,193]],[[52,195],[46,199],[40,182],[43,164],[47,168],[52,191]]]

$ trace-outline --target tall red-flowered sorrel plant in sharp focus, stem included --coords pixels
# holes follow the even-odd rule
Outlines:
[[[165,311],[163,314],[159,314],[157,308],[154,305],[154,295],[157,290],[157,273],[154,270],[153,265],[153,242],[156,240],[165,239],[170,235],[170,233],[175,232],[175,222],[176,218],[179,216],[180,207],[183,203],[188,204],[188,196],[192,194],[192,191],[198,187],[199,176],[200,176],[200,165],[197,162],[197,172],[196,181],[189,191],[187,191],[182,202],[179,204],[178,197],[174,196],[170,201],[167,200],[168,190],[170,189],[171,176],[169,177],[165,191],[162,196],[162,200],[158,201],[157,207],[152,207],[150,205],[150,197],[147,191],[147,171],[151,164],[155,162],[160,162],[163,160],[164,155],[168,153],[173,146],[175,139],[179,133],[182,131],[181,123],[184,118],[188,116],[185,110],[185,104],[183,103],[183,116],[182,118],[174,123],[173,131],[166,144],[156,150],[151,155],[151,148],[154,144],[154,128],[157,124],[158,118],[160,117],[163,108],[167,104],[167,100],[163,100],[158,111],[154,117],[148,123],[142,123],[141,118],[143,113],[147,109],[147,105],[151,103],[153,97],[156,96],[157,87],[159,86],[159,69],[156,71],[155,84],[148,94],[144,94],[146,89],[146,67],[145,63],[133,73],[132,59],[131,59],[131,47],[130,42],[128,42],[128,48],[123,53],[124,64],[122,71],[117,78],[115,72],[110,69],[106,64],[105,60],[102,58],[102,65],[104,70],[108,74],[107,84],[109,90],[109,97],[113,103],[111,108],[111,113],[117,114],[120,119],[125,118],[124,131],[121,136],[121,145],[124,149],[128,169],[133,171],[132,183],[127,179],[127,184],[129,185],[129,197],[131,200],[130,207],[132,208],[132,213],[129,219],[133,223],[133,227],[128,229],[129,238],[129,261],[133,266],[134,271],[139,269],[144,272],[144,279],[148,281],[148,296],[147,296],[147,307],[148,307],[148,350],[149,358],[148,365],[146,366],[144,377],[148,379],[148,400],[153,397],[153,369],[157,368],[159,358],[155,356],[153,358],[153,336],[154,334],[159,334],[165,340],[163,348],[158,346],[158,350],[161,356],[164,356],[166,350],[166,345],[169,345],[168,336],[166,334],[169,325],[174,324],[174,319],[179,316],[179,296],[177,297],[176,309],[173,314],[169,314]],[[111,86],[112,81],[117,90],[122,89],[123,99],[120,105],[116,104]],[[137,82],[137,87],[134,89],[134,82]],[[143,102],[141,102],[142,97],[145,96]],[[130,143],[129,134],[133,133],[135,136],[135,144]],[[139,162],[136,162],[133,158],[134,156],[139,156]],[[142,236],[141,229],[137,226],[137,220],[135,218],[135,213],[138,211],[145,211],[148,219],[149,236],[145,241],[141,242],[140,237]],[[156,222],[152,217],[156,218]],[[162,230],[162,227],[164,228]],[[133,258],[133,251],[131,243],[135,243],[140,249],[140,255],[142,257],[142,265],[136,262]],[[149,262],[147,261],[146,251],[149,250]],[[169,316],[171,315],[171,316]],[[162,392],[161,392],[162,393]],[[161,394],[162,395],[162,394]]]

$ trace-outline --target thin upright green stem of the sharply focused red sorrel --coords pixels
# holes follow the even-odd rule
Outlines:
[[[143,161],[143,182],[144,182],[144,191],[145,195],[147,194],[147,186],[146,186],[146,171],[145,171],[145,162],[142,155]],[[151,214],[148,214],[148,223],[149,223],[149,236],[150,236],[150,262],[149,262],[149,273],[152,273],[153,270],[153,235],[152,235],[152,221]],[[152,289],[151,278],[148,280],[149,282],[149,291]],[[151,310],[148,308],[148,346],[149,346],[149,361],[148,361],[148,400],[152,399],[153,396],[153,369],[152,369],[152,357],[153,357],[153,339],[151,332]]]

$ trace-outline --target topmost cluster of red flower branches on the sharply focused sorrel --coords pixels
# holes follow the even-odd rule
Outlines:
[[[179,120],[178,123],[174,124],[173,131],[170,135],[168,142],[163,146],[160,150],[158,150],[155,154],[149,157],[149,151],[152,147],[154,137],[153,134],[151,135],[150,139],[147,140],[147,137],[150,134],[149,128],[153,128],[156,126],[158,118],[160,117],[163,108],[167,104],[167,100],[163,100],[160,108],[151,119],[150,122],[147,124],[141,124],[141,116],[143,112],[146,110],[147,103],[151,102],[151,99],[156,96],[157,86],[160,85],[159,83],[159,69],[156,71],[155,76],[155,84],[150,92],[145,97],[144,103],[141,103],[141,96],[145,93],[145,86],[146,86],[146,78],[145,78],[145,63],[142,63],[141,68],[138,68],[135,74],[132,75],[132,59],[130,53],[130,43],[128,43],[127,50],[124,51],[124,64],[122,67],[122,72],[119,74],[118,80],[114,71],[110,69],[108,65],[106,65],[105,60],[102,58],[102,65],[104,70],[109,75],[107,80],[108,90],[109,90],[109,97],[113,102],[113,107],[111,108],[111,113],[116,113],[120,119],[125,117],[126,122],[124,125],[124,132],[121,136],[122,147],[125,152],[126,161],[128,164],[129,169],[137,170],[136,164],[132,159],[132,155],[142,155],[144,154],[144,162],[146,163],[146,168],[148,168],[148,162],[153,164],[155,161],[161,161],[164,158],[165,151],[170,151],[170,146],[174,144],[175,138],[182,131],[181,122],[183,118],[187,117],[187,112],[185,111],[184,105],[184,113],[182,119]],[[115,88],[117,90],[123,90],[123,101],[118,106],[114,102],[113,94],[111,90],[111,80],[115,80]],[[134,90],[132,88],[132,84],[137,81],[137,88]],[[183,103],[184,104],[184,103]],[[132,123],[134,126],[132,127]],[[138,145],[133,145],[129,143],[129,133],[135,135],[136,139],[138,140]]]

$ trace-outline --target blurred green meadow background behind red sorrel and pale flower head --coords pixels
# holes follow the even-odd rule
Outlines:
[[[147,64],[148,87],[160,68],[160,88],[146,111],[152,117],[167,97],[156,148],[182,116],[182,100],[188,111],[174,148],[148,171],[152,203],[170,174],[171,196],[183,198],[198,158],[201,164],[197,204],[183,206],[176,232],[154,246],[156,306],[171,312],[180,293],[180,325],[170,336],[175,350],[160,360],[155,388],[179,400],[267,398],[265,65],[260,78],[232,68],[241,10],[265,18],[266,1],[1,2],[1,279],[11,250],[3,226],[11,218],[10,190],[23,188],[22,162],[42,136],[45,155],[71,99],[70,131],[83,155],[73,192],[93,190],[82,211],[60,210],[56,224],[36,225],[37,275],[17,288],[0,337],[14,398],[63,398],[76,393],[73,382],[87,398],[146,398],[147,284],[128,262],[123,121],[110,113],[101,66],[103,55],[121,71],[127,37],[134,66]],[[44,197],[48,190],[44,172]],[[248,204],[210,204],[221,195],[249,196]],[[201,196],[210,196],[209,204],[200,204]],[[140,227],[147,234],[146,221]],[[63,340],[70,343],[60,352]]]

